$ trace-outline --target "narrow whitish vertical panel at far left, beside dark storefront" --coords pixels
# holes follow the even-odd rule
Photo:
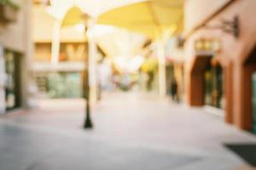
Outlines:
[[[0,114],[5,112],[5,65],[3,58],[3,47],[0,45]]]

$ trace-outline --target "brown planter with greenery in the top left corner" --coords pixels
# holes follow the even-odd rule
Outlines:
[[[12,0],[0,0],[0,22],[15,22],[19,9],[20,6]]]

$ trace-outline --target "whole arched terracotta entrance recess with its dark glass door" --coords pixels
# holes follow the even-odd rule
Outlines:
[[[192,63],[188,92],[189,105],[211,105],[226,111],[224,86],[227,81],[224,79],[224,74],[227,74],[228,70],[224,70],[224,65],[220,65],[220,61],[212,56],[210,54],[196,56]]]

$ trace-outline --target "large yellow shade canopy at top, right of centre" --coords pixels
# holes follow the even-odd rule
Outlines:
[[[114,8],[99,16],[97,24],[122,27],[151,38],[183,29],[183,0],[149,0]]]

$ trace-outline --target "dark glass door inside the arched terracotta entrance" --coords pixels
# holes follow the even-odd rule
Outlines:
[[[203,79],[204,105],[223,109],[224,77],[221,65],[211,59],[204,71]]]

